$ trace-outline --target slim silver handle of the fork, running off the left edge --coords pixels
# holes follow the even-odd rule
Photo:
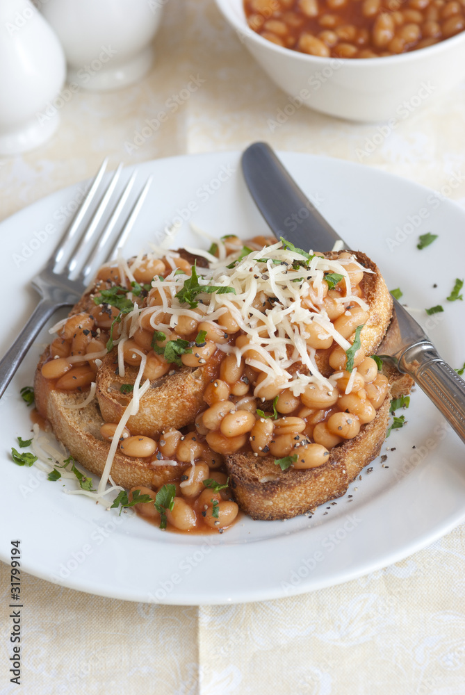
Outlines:
[[[31,347],[35,338],[44,323],[58,309],[58,306],[67,306],[67,304],[57,304],[55,301],[42,299],[35,307],[31,318],[22,329],[22,332],[16,338],[13,345],[10,347],[5,357],[0,361],[0,398],[5,393],[6,387],[10,383],[13,375],[19,365],[22,363],[26,352]]]

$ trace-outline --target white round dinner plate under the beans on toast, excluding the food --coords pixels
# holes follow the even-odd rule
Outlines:
[[[416,318],[443,357],[452,367],[462,365],[463,303],[447,302],[446,296],[455,277],[463,275],[464,212],[425,188],[367,167],[304,154],[286,153],[282,159],[341,236],[377,261],[389,288],[402,288],[402,300],[417,307]],[[180,245],[188,238],[199,244],[188,229],[190,221],[216,236],[267,231],[245,189],[238,154],[147,162],[140,165],[139,180],[149,173],[154,174],[152,191],[128,254],[159,238],[177,215],[185,218]],[[51,253],[76,196],[79,186],[72,186],[0,225],[3,326],[9,327],[8,334],[1,334],[1,354],[34,306],[29,279]],[[427,231],[439,238],[418,251],[418,235]],[[435,304],[443,304],[444,313],[428,317],[423,309]],[[40,340],[47,338],[43,332]],[[26,437],[30,429],[19,389],[31,384],[40,350],[39,344],[33,347],[0,402],[1,558],[9,562],[10,541],[20,539],[23,569],[38,577],[142,602],[277,598],[380,569],[431,543],[465,516],[464,446],[416,390],[405,413],[408,424],[387,440],[395,448],[387,452],[389,468],[377,459],[370,464],[371,473],[365,469],[346,496],[336,505],[323,505],[313,518],[243,518],[222,535],[201,537],[161,532],[127,515],[120,518],[115,510],[106,512],[86,498],[63,494],[60,482],[40,480],[35,468],[19,468],[10,460],[15,437]]]

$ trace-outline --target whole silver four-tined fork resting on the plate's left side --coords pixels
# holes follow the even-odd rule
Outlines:
[[[60,306],[76,304],[88,286],[89,279],[97,270],[97,264],[100,265],[104,261],[109,261],[117,255],[117,252],[126,243],[133,224],[136,222],[152,183],[152,176],[147,179],[124,220],[122,228],[115,237],[113,232],[117,222],[122,218],[123,208],[136,179],[136,172],[131,175],[112,211],[110,201],[120,178],[122,164],[113,173],[111,181],[106,186],[103,195],[100,193],[99,199],[99,189],[102,188],[101,181],[104,178],[107,165],[108,158],[105,158],[70,227],[66,229],[43,270],[32,280],[33,288],[38,291],[42,298],[22,332],[0,361],[0,398],[44,323]],[[92,218],[86,220],[86,213],[95,200],[99,200],[97,208]],[[110,216],[102,228],[102,218],[105,214],[108,217],[108,213]]]

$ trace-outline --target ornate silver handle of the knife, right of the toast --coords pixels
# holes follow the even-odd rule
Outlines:
[[[432,343],[412,345],[398,362],[409,374],[465,443],[465,382],[445,362]]]

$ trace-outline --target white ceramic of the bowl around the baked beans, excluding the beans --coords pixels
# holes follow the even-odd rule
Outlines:
[[[348,120],[397,123],[465,79],[465,32],[398,56],[319,58],[252,31],[243,0],[215,2],[257,63],[288,95],[277,108],[278,122],[304,104]]]

